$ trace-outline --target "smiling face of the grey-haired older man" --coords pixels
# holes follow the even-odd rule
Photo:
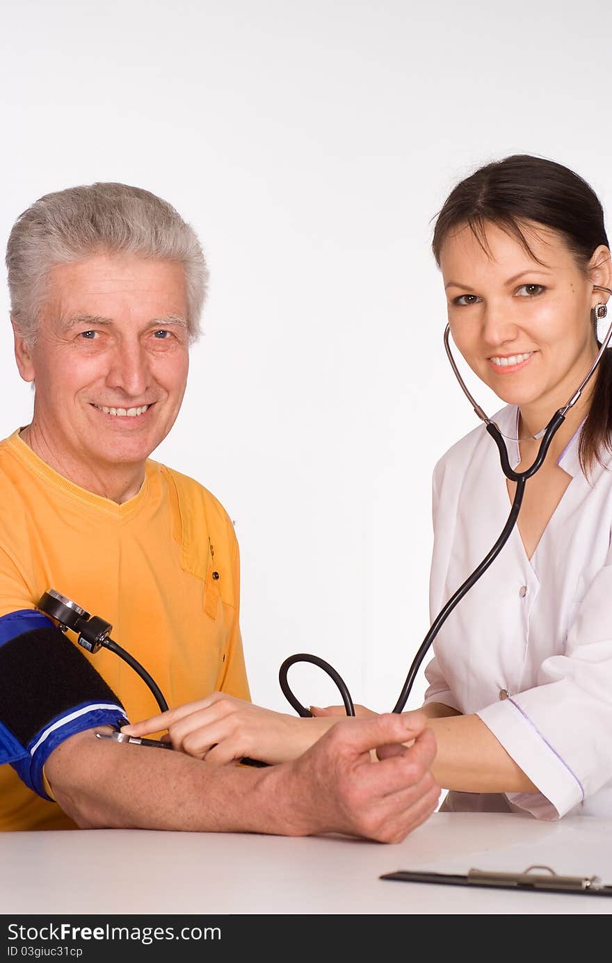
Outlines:
[[[99,253],[56,265],[37,341],[17,351],[45,443],[96,474],[144,463],[185,393],[187,317],[181,264]]]

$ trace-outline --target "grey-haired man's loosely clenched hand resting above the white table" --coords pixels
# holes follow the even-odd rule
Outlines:
[[[370,751],[391,745],[393,754],[372,765]],[[290,835],[338,832],[399,843],[438,805],[435,756],[434,735],[418,712],[350,718],[338,720],[294,763],[269,775],[282,775],[279,792],[293,800]]]

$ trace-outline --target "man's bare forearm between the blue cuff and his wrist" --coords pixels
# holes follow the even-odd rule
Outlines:
[[[302,835],[310,826],[280,792],[275,768],[217,767],[181,752],[96,740],[60,745],[46,774],[81,828],[139,828]]]

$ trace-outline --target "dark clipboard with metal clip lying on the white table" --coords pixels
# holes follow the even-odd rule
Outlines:
[[[468,870],[465,874],[396,870],[384,873],[379,879],[395,879],[404,883],[437,883],[442,886],[485,886],[490,889],[522,890],[530,893],[612,897],[612,886],[602,883],[599,876],[564,876],[554,872],[549,866],[528,866],[524,872]]]

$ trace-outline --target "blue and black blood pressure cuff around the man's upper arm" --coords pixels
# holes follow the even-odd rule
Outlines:
[[[0,617],[0,764],[43,799],[42,768],[85,729],[128,721],[115,692],[63,632],[22,609]]]

